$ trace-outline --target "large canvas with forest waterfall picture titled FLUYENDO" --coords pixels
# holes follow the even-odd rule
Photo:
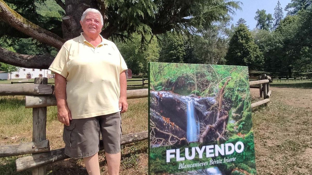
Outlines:
[[[149,63],[149,174],[256,174],[248,67]]]

